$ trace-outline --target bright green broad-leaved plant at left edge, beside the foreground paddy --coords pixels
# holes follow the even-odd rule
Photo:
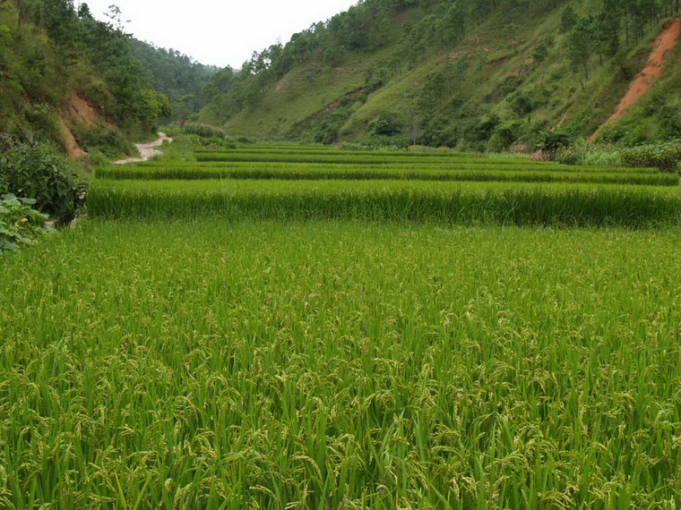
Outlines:
[[[33,204],[35,200],[17,199],[10,193],[0,195],[0,255],[30,244],[49,231],[45,225],[47,215],[31,208]]]

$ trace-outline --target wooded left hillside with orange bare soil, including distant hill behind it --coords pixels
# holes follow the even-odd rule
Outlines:
[[[215,70],[134,41],[120,11],[109,14],[97,21],[72,0],[0,0],[0,134],[113,157],[174,110],[202,106]]]

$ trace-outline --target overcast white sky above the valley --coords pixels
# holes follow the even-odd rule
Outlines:
[[[282,44],[316,21],[347,11],[357,0],[73,0],[103,13],[116,4],[125,31],[159,47],[177,49],[202,64],[238,68],[254,50]]]

